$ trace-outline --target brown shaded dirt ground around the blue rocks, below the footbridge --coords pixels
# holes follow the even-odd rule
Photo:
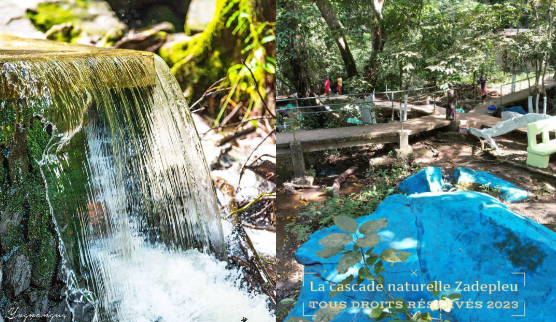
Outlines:
[[[512,211],[529,217],[556,232],[556,177],[532,172],[525,166],[527,158],[527,136],[512,132],[495,138],[499,144],[498,157],[483,152],[476,138],[467,134],[429,133],[410,139],[414,151],[414,164],[420,167],[440,167],[444,174],[453,174],[458,167],[482,170],[507,180],[518,187],[526,189],[530,197],[520,203],[505,203]],[[376,145],[369,148],[350,148],[337,152],[321,153],[317,158],[316,184],[330,181],[331,171],[321,170],[328,167],[338,168],[336,174],[351,165],[359,165],[359,171],[346,180],[341,194],[357,194],[366,188],[368,182],[365,168],[392,165],[395,158],[388,153],[390,146]],[[509,161],[510,163],[508,163]],[[511,164],[514,163],[514,164]],[[523,165],[517,167],[515,164]],[[318,166],[320,165],[320,166]],[[363,169],[362,169],[363,168]],[[532,169],[532,168],[531,168]],[[547,173],[556,174],[556,155],[553,155]],[[338,173],[339,172],[339,173]],[[334,174],[332,174],[334,175]],[[333,178],[332,178],[333,180]],[[297,298],[303,277],[303,265],[295,260],[295,252],[303,241],[297,235],[285,229],[285,225],[296,218],[310,202],[324,201],[327,194],[323,190],[298,190],[297,195],[287,196],[278,191],[280,202],[277,205],[277,264],[278,264],[278,302],[285,298]],[[310,232],[309,232],[310,233]],[[283,321],[291,309],[291,304],[278,306],[278,319]]]

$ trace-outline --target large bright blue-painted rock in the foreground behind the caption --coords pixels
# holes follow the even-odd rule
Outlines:
[[[385,249],[395,248],[412,254],[405,262],[393,267],[384,263],[386,271],[382,275],[387,288],[388,285],[399,287],[405,283],[426,286],[432,281],[441,282],[444,287],[449,284],[449,291],[442,293],[461,294],[462,298],[456,303],[462,306],[454,307],[449,313],[442,312],[444,320],[521,321],[512,315],[523,315],[524,303],[528,321],[556,320],[556,284],[553,281],[556,235],[511,212],[497,199],[467,191],[397,194],[385,199],[373,214],[361,217],[357,222],[361,225],[378,218],[386,218],[388,226],[378,231],[381,242],[373,253],[381,254]],[[363,267],[360,263],[348,273],[338,275],[336,266],[342,254],[328,259],[316,255],[324,249],[319,240],[340,232],[337,226],[321,229],[297,251],[296,259],[305,265],[304,286],[286,321],[298,320],[292,317],[311,321],[311,315],[317,311],[317,308],[311,308],[311,301],[344,301],[348,309],[332,321],[368,321],[371,310],[362,309],[362,303],[388,300],[384,292],[376,290],[343,292],[329,298],[331,285],[339,283],[350,273],[358,275],[358,269]],[[476,282],[479,287],[488,285],[487,289],[465,290],[466,284]],[[363,285],[371,283],[362,282]],[[510,285],[517,291],[501,291],[502,285]],[[324,291],[318,291],[319,287]],[[488,288],[491,287],[496,290],[489,294]],[[390,293],[394,298],[402,297],[415,305],[420,300],[435,299],[426,289],[390,289]],[[510,308],[500,308],[508,305]],[[425,303],[425,308],[409,311],[429,312],[433,318],[439,318],[439,311],[431,311],[428,307]]]

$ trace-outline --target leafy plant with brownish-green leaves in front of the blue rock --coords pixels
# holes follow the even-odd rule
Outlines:
[[[334,223],[343,233],[329,234],[319,241],[319,244],[325,246],[317,255],[322,258],[330,258],[332,256],[341,255],[336,267],[339,275],[347,274],[347,276],[336,285],[336,288],[330,292],[329,297],[334,298],[338,294],[349,290],[346,286],[355,282],[361,284],[364,281],[386,285],[384,272],[386,272],[385,263],[389,263],[390,267],[396,263],[405,262],[411,257],[411,253],[399,251],[394,248],[383,250],[380,254],[373,253],[375,247],[380,243],[380,235],[377,231],[388,226],[388,220],[380,218],[377,220],[369,220],[359,224],[351,217],[338,215],[334,216]],[[357,265],[363,264],[358,270],[353,270]],[[431,282],[427,290],[436,299],[429,302],[431,311],[450,312],[453,302],[461,299],[461,294],[441,294],[439,285]],[[369,314],[369,318],[380,321],[386,318],[394,319],[391,321],[431,321],[432,317],[429,313],[416,312],[409,314],[409,305],[403,298],[394,298],[384,286],[384,293],[390,298],[392,306],[385,309],[382,306],[373,308]],[[313,321],[332,321],[344,308],[339,306],[326,307],[318,310],[313,317]],[[293,318],[296,319],[297,318]],[[442,315],[440,319],[442,320]],[[449,321],[445,321],[449,322]]]

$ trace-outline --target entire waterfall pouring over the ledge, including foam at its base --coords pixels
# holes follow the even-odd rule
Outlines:
[[[166,64],[135,51],[0,44],[0,102],[31,109],[50,134],[35,161],[74,318],[274,321],[217,260],[226,250],[214,188]]]

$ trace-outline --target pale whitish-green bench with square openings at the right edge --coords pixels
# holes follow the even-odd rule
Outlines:
[[[547,168],[552,153],[556,153],[556,139],[550,139],[550,132],[556,130],[556,117],[527,124],[527,164]],[[541,134],[542,143],[537,143]]]

